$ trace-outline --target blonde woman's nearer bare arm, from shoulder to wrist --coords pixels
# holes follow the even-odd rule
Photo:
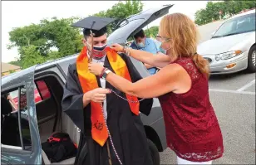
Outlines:
[[[139,98],[154,98],[176,90],[180,76],[183,75],[180,74],[181,69],[181,66],[171,64],[165,66],[155,75],[148,76],[135,83],[131,83],[129,80],[114,73],[109,73],[106,76],[106,80],[116,89],[128,95],[134,95]]]

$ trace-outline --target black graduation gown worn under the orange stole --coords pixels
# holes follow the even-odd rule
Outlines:
[[[130,58],[120,54],[130,72],[130,78],[133,82],[142,77],[135,69]],[[112,70],[106,57],[104,66]],[[113,71],[113,70],[112,70]],[[98,85],[101,87],[100,80],[97,77]],[[106,82],[106,88],[116,91],[118,95],[126,98],[125,94],[116,90],[112,85]],[[66,85],[62,99],[62,109],[81,129],[81,140],[76,164],[86,165],[109,165],[106,143],[101,147],[91,138],[91,104],[82,108],[82,89],[76,72],[76,64],[68,68]],[[140,98],[138,98],[140,99]],[[140,112],[150,114],[153,99],[144,99],[140,102]],[[106,96],[107,106],[107,125],[116,148],[116,152],[124,165],[151,165],[152,159],[148,147],[145,129],[141,122],[140,115],[136,116],[130,111],[128,102],[111,93]],[[120,164],[111,146],[111,161],[113,165]]]

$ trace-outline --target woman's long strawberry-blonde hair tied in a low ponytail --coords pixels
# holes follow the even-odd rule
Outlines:
[[[185,14],[173,13],[160,21],[161,36],[170,38],[170,56],[191,56],[201,73],[209,77],[209,63],[196,53],[199,32],[194,22]]]

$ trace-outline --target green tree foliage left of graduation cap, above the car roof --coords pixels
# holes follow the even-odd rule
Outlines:
[[[82,47],[79,29],[71,27],[77,20],[76,17],[52,17],[38,24],[14,28],[9,32],[11,44],[7,48],[17,46],[22,68],[75,54]]]

